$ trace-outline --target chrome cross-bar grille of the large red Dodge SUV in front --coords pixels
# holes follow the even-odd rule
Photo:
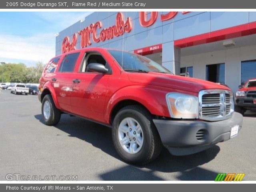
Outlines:
[[[209,121],[230,118],[234,112],[232,92],[228,90],[202,90],[198,94],[199,118]]]

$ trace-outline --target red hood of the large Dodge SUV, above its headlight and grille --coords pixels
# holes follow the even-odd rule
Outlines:
[[[191,77],[183,77],[162,73],[127,73],[131,82],[161,86],[172,89],[179,89],[189,92],[199,92],[204,89],[224,89],[230,90],[226,86],[222,86],[206,80]]]

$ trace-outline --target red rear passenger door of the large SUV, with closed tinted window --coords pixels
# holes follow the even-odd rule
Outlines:
[[[56,75],[52,78],[54,90],[61,110],[70,113],[72,112],[70,100],[72,92],[71,85],[72,80],[75,78],[74,67],[79,56],[80,52],[66,54],[57,69],[58,72],[56,72]]]

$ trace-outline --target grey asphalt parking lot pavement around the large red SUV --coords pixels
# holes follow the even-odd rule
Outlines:
[[[198,154],[172,156],[166,149],[150,164],[123,162],[111,129],[62,115],[57,126],[41,120],[34,95],[0,92],[0,180],[6,174],[78,176],[78,180],[214,180],[218,173],[245,173],[256,180],[256,115],[244,117],[240,134]]]

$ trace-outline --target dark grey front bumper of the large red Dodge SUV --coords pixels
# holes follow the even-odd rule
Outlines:
[[[173,155],[194,154],[230,139],[231,127],[242,128],[243,116],[234,112],[229,119],[206,122],[199,120],[157,120],[153,122],[159,132],[163,145]],[[204,132],[201,140],[196,138],[198,131]]]

